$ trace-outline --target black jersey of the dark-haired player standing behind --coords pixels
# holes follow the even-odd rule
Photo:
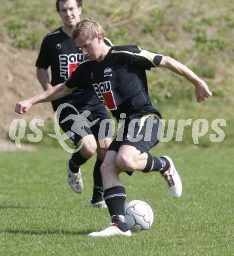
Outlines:
[[[111,45],[108,39],[105,43]],[[45,36],[35,66],[45,69],[50,66],[50,83],[54,86],[58,83],[64,83],[84,60],[85,56],[81,49],[75,45],[69,35],[63,32],[61,27]],[[52,102],[54,110],[64,102],[75,105],[77,109],[94,111],[103,108],[94,91],[90,88],[75,89],[70,95],[54,100]]]

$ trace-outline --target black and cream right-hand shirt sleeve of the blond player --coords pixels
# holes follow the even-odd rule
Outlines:
[[[136,45],[131,47],[129,53],[126,53],[127,65],[145,70],[159,66],[162,58],[163,55],[143,50]]]

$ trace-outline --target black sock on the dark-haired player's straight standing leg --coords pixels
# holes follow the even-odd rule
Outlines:
[[[102,160],[98,157],[96,158],[96,163],[94,165],[94,189],[92,192],[92,203],[103,201],[103,187],[102,187],[102,175],[100,171],[100,167],[102,165]]]

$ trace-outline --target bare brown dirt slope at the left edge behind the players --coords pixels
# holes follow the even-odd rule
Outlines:
[[[7,142],[7,138],[13,119],[29,121],[32,118],[41,118],[49,121],[54,118],[54,113],[50,103],[37,104],[25,115],[14,113],[16,102],[43,91],[35,75],[37,52],[19,50],[0,43],[0,56],[0,150],[10,150],[12,145]]]

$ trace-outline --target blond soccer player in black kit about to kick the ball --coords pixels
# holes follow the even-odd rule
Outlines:
[[[161,114],[151,105],[146,70],[165,67],[184,76],[195,85],[198,102],[211,96],[211,92],[205,81],[173,58],[142,50],[136,45],[108,47],[104,43],[102,26],[90,18],[75,26],[73,39],[89,60],[83,62],[65,83],[18,102],[15,111],[24,114],[33,104],[60,98],[76,87],[89,87],[117,120],[125,118],[125,127],[128,127],[123,131],[123,139],[111,142],[101,167],[104,199],[112,224],[89,236],[131,236],[125,223],[126,192],[119,179],[121,170],[159,172],[173,198],[180,198],[182,194],[182,182],[173,161],[168,156],[157,158],[149,153],[159,140]],[[151,139],[146,138],[149,135],[147,123],[151,124]],[[136,141],[138,138],[140,140]]]

